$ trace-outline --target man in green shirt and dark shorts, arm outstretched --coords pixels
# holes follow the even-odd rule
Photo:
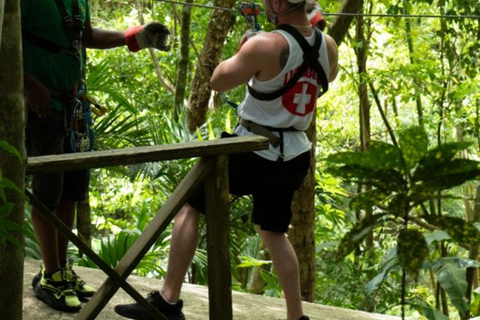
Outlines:
[[[72,125],[70,115],[73,106],[80,117],[85,111],[77,99],[82,89],[82,46],[166,51],[169,31],[159,23],[126,31],[93,28],[88,0],[21,0],[21,10],[28,155],[88,151],[91,145],[85,148],[82,140],[88,136],[83,132],[81,139],[74,137],[74,129],[80,129],[78,123]],[[37,174],[32,180],[34,195],[69,228],[76,202],[86,198],[88,185],[88,170]],[[95,290],[67,262],[68,239],[57,234],[36,209],[32,221],[44,264],[32,281],[36,297],[58,310],[79,311],[80,299],[91,297]]]

